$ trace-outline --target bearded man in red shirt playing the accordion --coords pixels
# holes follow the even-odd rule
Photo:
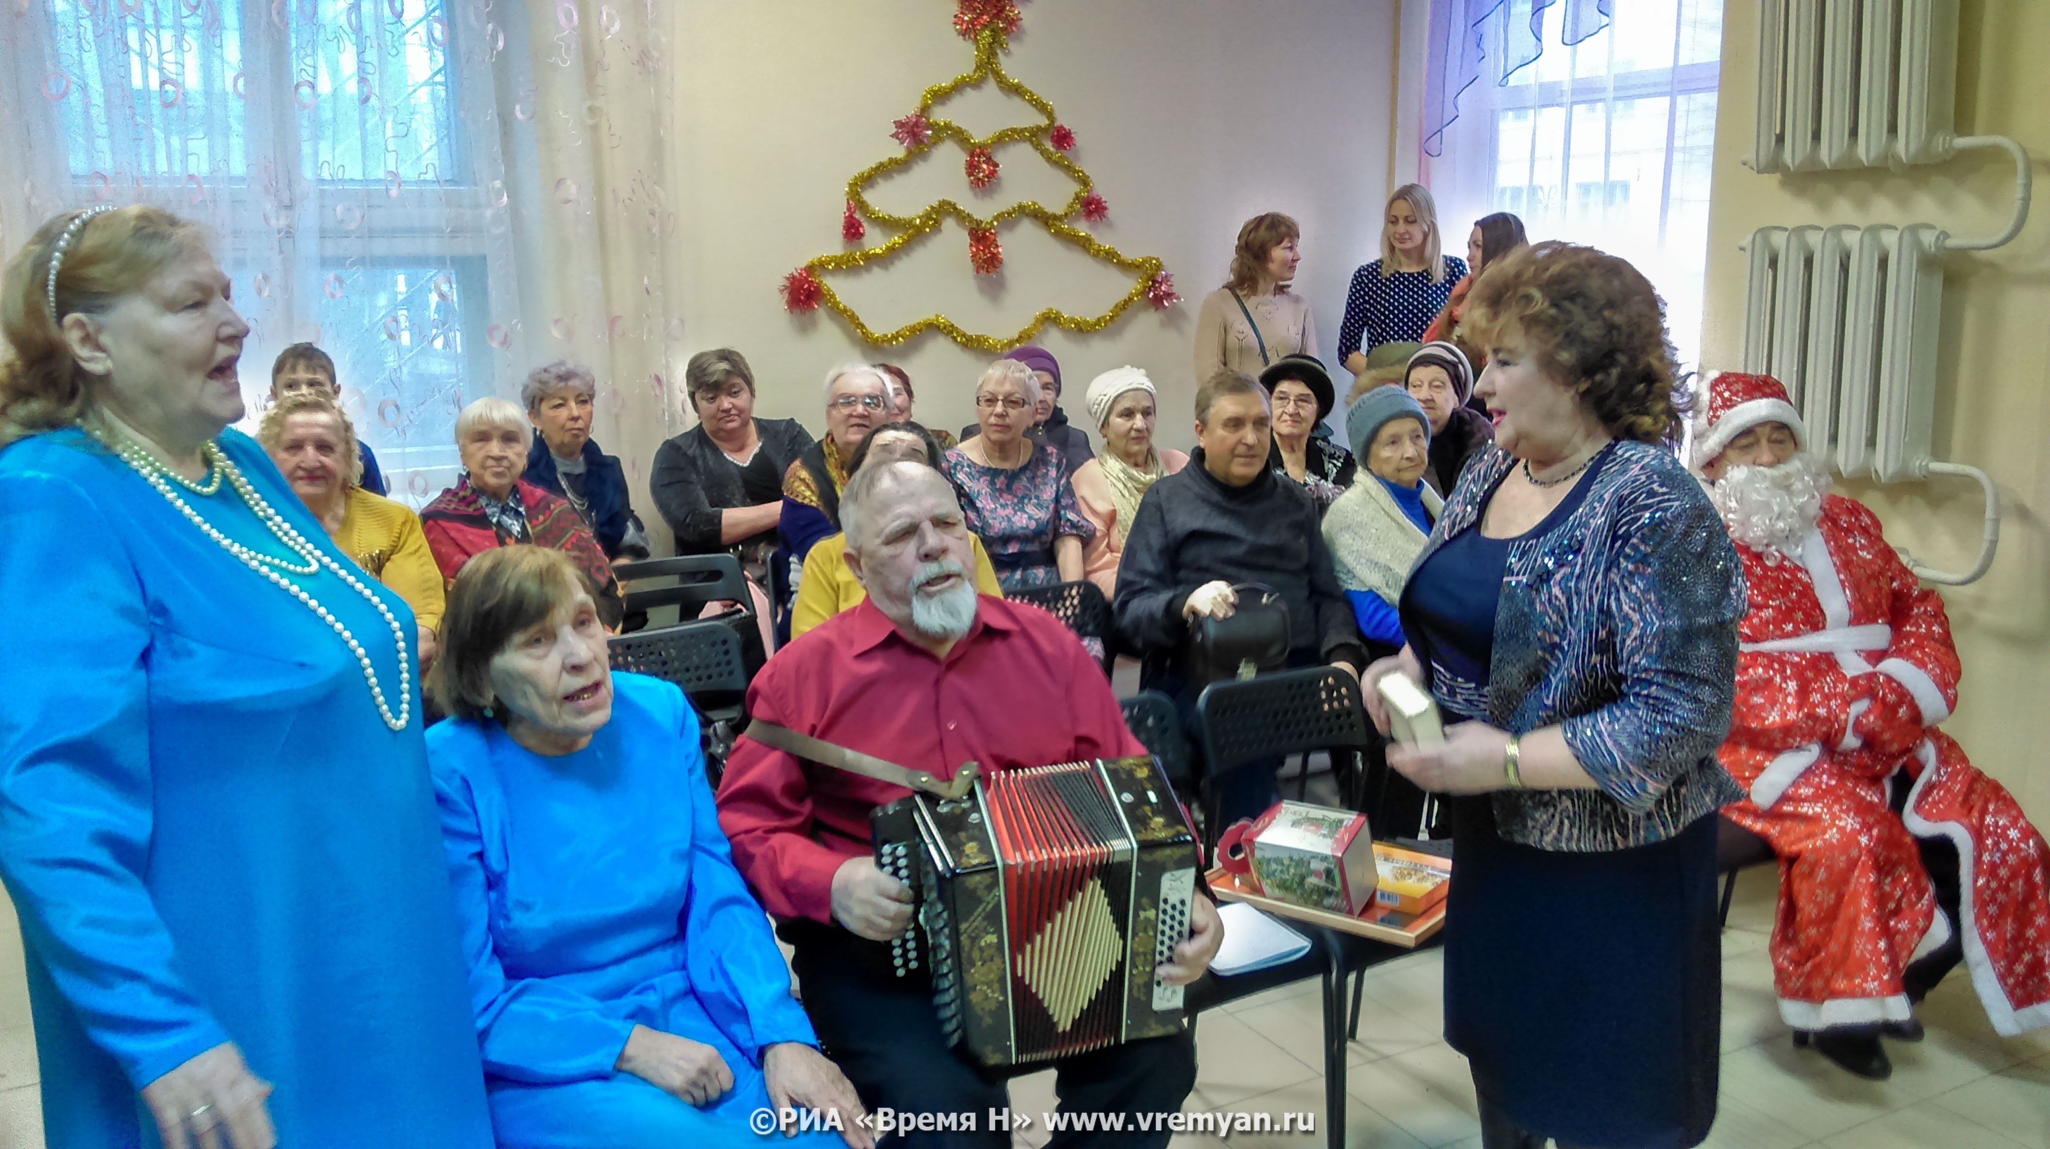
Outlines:
[[[865,467],[840,496],[840,524],[847,567],[869,598],[769,659],[748,690],[752,717],[935,778],[961,762],[1009,770],[1146,754],[1066,627],[976,596],[968,526],[939,471]],[[1009,1108],[1004,1073],[957,1057],[931,983],[892,971],[888,940],[910,922],[910,891],[875,868],[869,811],[908,793],[742,737],[720,782],[720,825],[740,873],[783,920],[804,1008],[863,1104],[976,1114],[974,1133],[912,1133],[908,1145],[1009,1145],[1007,1129],[988,1126],[990,1110]],[[1224,928],[1201,895],[1191,930],[1160,977],[1189,983],[1210,969]],[[1056,1065],[1068,1112],[1179,1112],[1195,1083],[1195,1042],[1183,1032]],[[1054,1143],[1072,1137],[1056,1133]]]

